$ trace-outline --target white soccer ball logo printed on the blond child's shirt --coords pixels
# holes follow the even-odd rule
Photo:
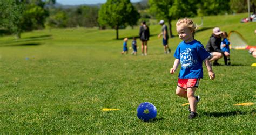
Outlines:
[[[193,59],[190,48],[180,53],[180,63],[183,68],[189,68],[193,63],[197,63],[197,60]]]

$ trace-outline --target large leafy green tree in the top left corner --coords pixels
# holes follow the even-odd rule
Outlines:
[[[48,16],[45,5],[55,0],[5,0],[0,1],[0,26],[21,38],[22,31],[41,29]]]

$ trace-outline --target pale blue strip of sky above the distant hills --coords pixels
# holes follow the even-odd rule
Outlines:
[[[105,3],[107,0],[56,0],[57,3],[63,5],[80,5],[80,4],[98,4]],[[130,0],[131,2],[139,2],[142,0]]]

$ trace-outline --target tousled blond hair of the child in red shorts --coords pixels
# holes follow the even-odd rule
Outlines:
[[[196,30],[198,29],[198,25],[194,24],[193,20],[190,18],[181,18],[177,21],[176,26],[185,26],[188,27],[190,30],[193,30],[193,38],[194,38],[194,34],[196,34]]]

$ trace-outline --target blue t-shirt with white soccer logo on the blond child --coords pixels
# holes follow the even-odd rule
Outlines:
[[[197,40],[188,43],[184,41],[180,42],[174,53],[174,57],[179,59],[181,64],[179,78],[203,78],[203,61],[210,55]]]

